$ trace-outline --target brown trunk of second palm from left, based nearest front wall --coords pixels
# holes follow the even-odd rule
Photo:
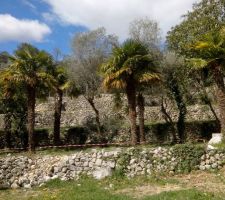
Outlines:
[[[29,152],[35,152],[35,137],[34,137],[34,124],[35,124],[35,87],[27,87],[27,131],[28,131],[28,145]]]

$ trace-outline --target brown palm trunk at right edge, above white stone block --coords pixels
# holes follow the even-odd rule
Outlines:
[[[217,85],[217,101],[220,112],[221,133],[225,136],[225,86],[223,81],[223,72],[221,66],[213,67],[213,76]]]

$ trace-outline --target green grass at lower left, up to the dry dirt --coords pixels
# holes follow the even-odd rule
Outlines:
[[[82,178],[80,181],[53,180],[45,186],[28,191],[6,190],[0,192],[1,200],[130,200],[125,195],[116,195],[109,192],[99,182]]]

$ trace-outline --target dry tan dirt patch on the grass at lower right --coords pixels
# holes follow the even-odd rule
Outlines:
[[[187,175],[176,175],[174,177],[160,177],[164,181],[173,180],[175,183],[158,185],[156,183],[135,188],[117,190],[117,194],[132,195],[135,198],[159,194],[161,192],[178,191],[195,188],[203,192],[210,192],[217,195],[225,195],[225,167],[217,173],[195,171]],[[160,179],[159,178],[159,179]]]

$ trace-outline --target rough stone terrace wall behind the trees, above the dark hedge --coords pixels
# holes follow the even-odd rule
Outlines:
[[[146,101],[152,97],[146,96]],[[94,117],[94,112],[91,106],[87,103],[84,97],[68,98],[64,97],[64,108],[62,112],[61,125],[64,127],[71,127],[77,125],[84,125],[88,119]],[[113,110],[113,98],[112,95],[102,94],[99,98],[95,99],[96,107],[100,111],[100,117],[103,119],[110,116],[122,115],[127,119],[126,115],[126,99],[124,97],[124,105],[118,112]],[[53,112],[54,112],[54,99],[49,98],[44,103],[38,103],[36,106],[36,127],[51,127],[53,124]],[[177,120],[178,113],[176,106],[170,106],[168,112],[171,114],[173,120]],[[217,112],[217,110],[216,110]],[[213,114],[209,108],[205,105],[193,105],[188,106],[187,120],[209,120],[214,119]],[[145,107],[145,120],[152,122],[164,121],[162,113],[160,112],[160,106],[147,106]],[[0,115],[0,128],[3,127],[3,115]]]

